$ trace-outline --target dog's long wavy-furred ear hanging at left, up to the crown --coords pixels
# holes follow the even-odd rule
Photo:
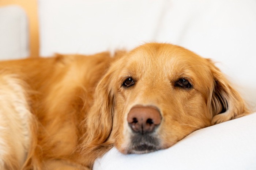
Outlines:
[[[109,138],[114,112],[115,78],[120,66],[120,58],[126,51],[116,51],[111,66],[95,88],[94,101],[85,120],[85,139],[88,145],[101,146]]]

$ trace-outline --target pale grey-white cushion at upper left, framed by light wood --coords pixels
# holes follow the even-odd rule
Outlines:
[[[16,5],[0,8],[0,60],[29,56],[28,21]]]

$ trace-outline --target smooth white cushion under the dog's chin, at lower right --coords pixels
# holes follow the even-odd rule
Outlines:
[[[256,113],[197,130],[169,149],[123,155],[116,148],[93,170],[255,170]]]

